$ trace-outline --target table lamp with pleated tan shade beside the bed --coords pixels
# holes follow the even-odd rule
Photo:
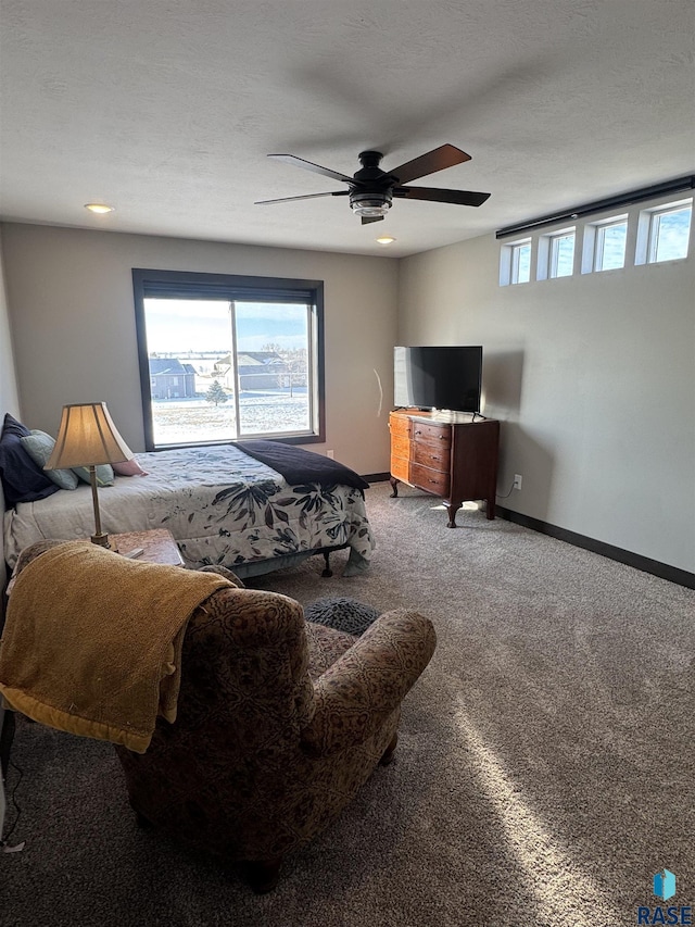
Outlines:
[[[55,447],[43,469],[67,469],[74,466],[88,468],[96,524],[91,541],[100,547],[110,548],[111,544],[109,535],[101,530],[97,466],[119,463],[131,458],[132,451],[118,434],[105,402],[63,406]]]

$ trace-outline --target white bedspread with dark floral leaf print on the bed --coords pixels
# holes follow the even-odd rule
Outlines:
[[[375,543],[358,489],[289,486],[229,444],[143,453],[138,461],[148,476],[117,476],[114,486],[99,489],[104,531],[168,528],[193,567],[254,564],[262,573],[275,568],[266,561],[343,546],[350,547],[346,574],[369,562]],[[90,487],[61,489],[4,513],[5,559],[14,566],[35,541],[93,530]]]

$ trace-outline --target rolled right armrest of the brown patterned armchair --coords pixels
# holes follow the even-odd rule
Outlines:
[[[399,609],[377,618],[316,681],[302,749],[318,756],[364,743],[399,707],[435,644],[432,623],[417,612]]]

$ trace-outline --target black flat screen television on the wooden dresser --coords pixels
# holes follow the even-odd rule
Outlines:
[[[394,348],[397,408],[480,412],[482,347]]]

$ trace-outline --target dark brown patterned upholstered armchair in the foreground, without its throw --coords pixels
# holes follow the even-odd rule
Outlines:
[[[408,610],[354,638],[285,596],[217,589],[186,629],[176,721],[157,719],[144,753],[115,747],[138,822],[245,862],[254,890],[271,889],[282,859],[389,762],[434,647]]]

